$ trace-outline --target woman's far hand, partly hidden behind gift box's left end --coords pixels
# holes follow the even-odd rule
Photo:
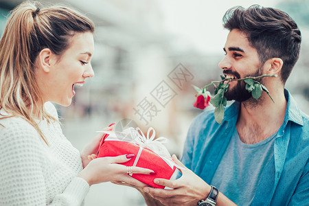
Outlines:
[[[104,128],[103,130],[104,131],[113,130],[114,124],[115,123],[111,124],[107,128]],[[97,135],[97,137],[93,138],[91,142],[86,147],[84,147],[82,152],[80,152],[80,157],[82,158],[83,168],[85,168],[91,160],[97,158],[95,154],[98,152],[100,142],[102,141],[102,138],[104,137],[104,135],[106,134],[100,133],[99,135]]]

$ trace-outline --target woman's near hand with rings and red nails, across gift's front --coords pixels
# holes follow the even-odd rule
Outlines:
[[[133,154],[93,159],[84,168],[84,170],[78,174],[78,176],[86,180],[89,185],[104,183],[108,181],[124,181],[130,185],[144,187],[144,183],[141,183],[140,181],[134,179],[132,176],[128,175],[125,165],[119,164],[129,161],[132,157],[134,157]],[[155,172],[152,170],[135,166],[132,167],[131,171],[133,174],[155,174]]]

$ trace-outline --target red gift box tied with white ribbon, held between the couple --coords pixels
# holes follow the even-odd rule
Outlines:
[[[130,128],[130,129],[135,130],[134,128]],[[102,142],[100,144],[100,147],[98,150],[98,157],[115,157],[118,155],[134,154],[135,157],[121,164],[126,165],[126,166],[133,166],[133,163],[135,163],[135,166],[140,167],[140,168],[148,168],[150,170],[153,170],[157,174],[155,175],[133,174],[132,177],[152,187],[157,187],[157,188],[162,188],[162,189],[164,188],[164,186],[155,184],[154,179],[156,178],[170,179],[170,177],[176,170],[176,164],[174,164],[172,161],[169,161],[168,159],[164,157],[161,157],[160,155],[150,150],[149,148],[146,148],[145,144],[143,143],[137,144],[133,141],[128,141],[128,138],[125,138],[123,135],[122,136],[117,135],[117,132],[113,132],[113,131],[107,132],[106,131],[104,133],[106,133],[106,135],[104,135],[104,138],[102,139]],[[154,133],[155,131],[153,130],[152,135],[154,135]],[[110,136],[108,137],[107,134],[110,134]],[[121,134],[121,133],[118,133],[118,134]],[[113,137],[111,137],[111,135]],[[148,135],[149,135],[149,130],[148,130]],[[148,143],[150,141],[148,137]],[[171,165],[171,163],[173,165]]]

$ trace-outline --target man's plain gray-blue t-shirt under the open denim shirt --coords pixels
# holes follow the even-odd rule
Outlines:
[[[251,205],[262,172],[273,157],[276,134],[257,144],[244,144],[235,129],[210,185],[237,205]]]

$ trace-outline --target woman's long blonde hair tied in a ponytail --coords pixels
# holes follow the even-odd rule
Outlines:
[[[69,8],[40,9],[38,2],[25,1],[10,13],[0,41],[0,109],[10,114],[1,115],[0,119],[22,117],[46,144],[35,117],[43,117],[47,122],[56,119],[43,109],[34,76],[36,57],[44,48],[61,56],[69,47],[69,38],[77,32],[93,33],[92,21]]]

